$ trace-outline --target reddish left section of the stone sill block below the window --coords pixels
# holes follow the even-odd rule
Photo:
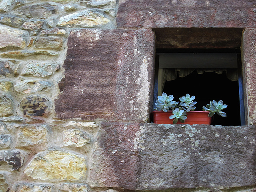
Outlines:
[[[136,189],[143,125],[102,122],[90,168],[90,186]]]

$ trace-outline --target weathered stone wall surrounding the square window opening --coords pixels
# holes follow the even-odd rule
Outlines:
[[[0,0],[0,192],[256,191],[254,1],[200,2]],[[250,125],[148,123],[169,27],[246,28]]]

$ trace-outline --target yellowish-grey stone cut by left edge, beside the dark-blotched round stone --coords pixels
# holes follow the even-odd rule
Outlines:
[[[10,116],[14,112],[12,96],[0,93],[0,117]]]

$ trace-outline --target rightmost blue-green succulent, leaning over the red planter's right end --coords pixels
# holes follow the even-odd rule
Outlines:
[[[223,101],[220,100],[218,103],[216,101],[211,101],[210,104],[203,106],[202,110],[203,111],[210,111],[209,117],[212,117],[215,113],[222,117],[226,117],[226,113],[222,112],[221,110],[227,108],[227,105],[223,104]]]

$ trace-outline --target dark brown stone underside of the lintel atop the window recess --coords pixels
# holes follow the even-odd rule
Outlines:
[[[156,48],[238,48],[243,28],[156,28]]]

